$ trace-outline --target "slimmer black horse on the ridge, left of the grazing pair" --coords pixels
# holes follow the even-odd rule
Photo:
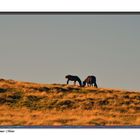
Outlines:
[[[74,85],[76,85],[76,81],[79,82],[79,85],[82,86],[82,82],[78,76],[73,75],[66,75],[65,78],[67,78],[67,84],[69,84],[69,81],[74,81]]]

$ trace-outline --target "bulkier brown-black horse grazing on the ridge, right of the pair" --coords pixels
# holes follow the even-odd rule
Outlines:
[[[96,83],[96,77],[93,75],[88,76],[84,81],[83,81],[83,86],[93,86],[98,88],[97,83]]]

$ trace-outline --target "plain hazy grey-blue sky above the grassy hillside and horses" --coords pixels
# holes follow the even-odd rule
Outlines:
[[[0,15],[0,78],[140,91],[139,52],[140,15]]]

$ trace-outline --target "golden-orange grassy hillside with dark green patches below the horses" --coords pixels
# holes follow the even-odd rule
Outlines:
[[[138,126],[140,92],[0,79],[0,126]]]

